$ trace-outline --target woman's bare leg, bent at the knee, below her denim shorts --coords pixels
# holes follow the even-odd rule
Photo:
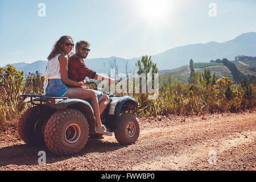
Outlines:
[[[90,104],[93,107],[94,116],[96,118],[96,127],[101,127],[102,123],[100,117],[100,106],[98,103],[97,94],[93,92],[93,90],[87,90],[82,88],[68,88],[65,97],[79,98],[81,100],[90,100]]]

